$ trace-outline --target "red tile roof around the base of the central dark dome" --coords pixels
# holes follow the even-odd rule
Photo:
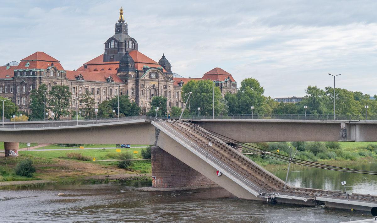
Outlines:
[[[132,50],[129,52],[129,54],[132,57],[133,61],[135,61],[135,69],[143,70],[143,66],[161,67],[156,61],[152,60],[151,58],[147,57],[137,50]],[[84,68],[85,65],[87,66],[87,68]],[[77,70],[89,72],[94,71],[101,73],[116,73],[116,68],[119,67],[119,61],[103,62],[103,54],[101,54],[93,60],[84,63],[84,66],[79,67]],[[111,68],[111,70],[109,70],[109,68]],[[163,72],[166,72],[165,69],[162,70]]]

